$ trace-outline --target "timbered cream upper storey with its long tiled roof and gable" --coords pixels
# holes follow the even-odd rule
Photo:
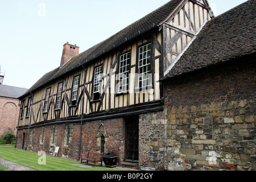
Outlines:
[[[79,55],[65,44],[75,57],[20,97],[21,112],[31,112],[19,126],[163,109],[159,81],[213,17],[209,12],[207,1],[172,0]]]

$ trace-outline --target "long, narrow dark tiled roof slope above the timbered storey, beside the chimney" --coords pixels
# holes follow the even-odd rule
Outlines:
[[[117,34],[111,36],[109,39],[106,39],[96,46],[93,46],[92,48],[80,53],[76,57],[73,57],[73,59],[65,64],[61,69],[56,68],[53,71],[46,73],[46,75],[40,78],[40,80],[37,81],[27,93],[39,88],[44,84],[47,84],[47,82],[52,81],[53,79],[58,78],[77,67],[80,67],[82,64],[96,60],[97,57],[105,55],[107,52],[120,47],[122,44],[130,42],[131,40],[143,35],[148,31],[151,31],[154,28],[158,28],[158,25],[164,19],[166,19],[182,1],[183,0],[171,0],[162,7],[159,7],[159,9],[156,9],[152,13],[144,16],[137,22],[134,22],[130,26],[127,26],[123,30],[119,31]]]

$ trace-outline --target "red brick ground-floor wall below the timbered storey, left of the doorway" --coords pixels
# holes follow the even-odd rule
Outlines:
[[[105,131],[102,130],[104,125]],[[69,145],[67,146],[66,129],[67,126],[71,129],[69,137]],[[55,127],[55,142],[52,143],[52,130]],[[27,133],[28,144],[27,149],[38,152],[40,150],[46,154],[52,155],[55,147],[59,148],[58,156],[64,158],[77,159],[79,154],[80,142],[80,123],[67,123],[61,125],[48,125],[42,127],[32,127],[30,131],[19,130],[16,148],[22,148],[23,133],[25,133],[24,149],[26,149]],[[42,130],[44,128],[44,139],[42,141]],[[100,130],[99,130],[100,129]],[[123,160],[124,150],[124,122],[122,118],[106,119],[100,121],[91,121],[82,123],[82,138],[81,138],[81,154],[86,154],[88,151],[98,151],[97,138],[100,133],[105,136],[105,152],[114,151],[118,154],[119,163]],[[33,136],[33,137],[32,137]]]

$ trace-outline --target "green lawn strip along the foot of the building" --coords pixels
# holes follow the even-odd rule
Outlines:
[[[22,164],[38,171],[110,171],[116,170],[106,167],[78,167],[71,164],[80,164],[73,160],[46,156],[46,164],[38,164],[40,156],[34,152],[18,150],[14,147],[0,147],[0,158]]]

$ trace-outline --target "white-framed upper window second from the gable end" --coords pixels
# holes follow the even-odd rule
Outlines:
[[[129,90],[130,56],[130,52],[120,56],[117,93],[126,93]]]

